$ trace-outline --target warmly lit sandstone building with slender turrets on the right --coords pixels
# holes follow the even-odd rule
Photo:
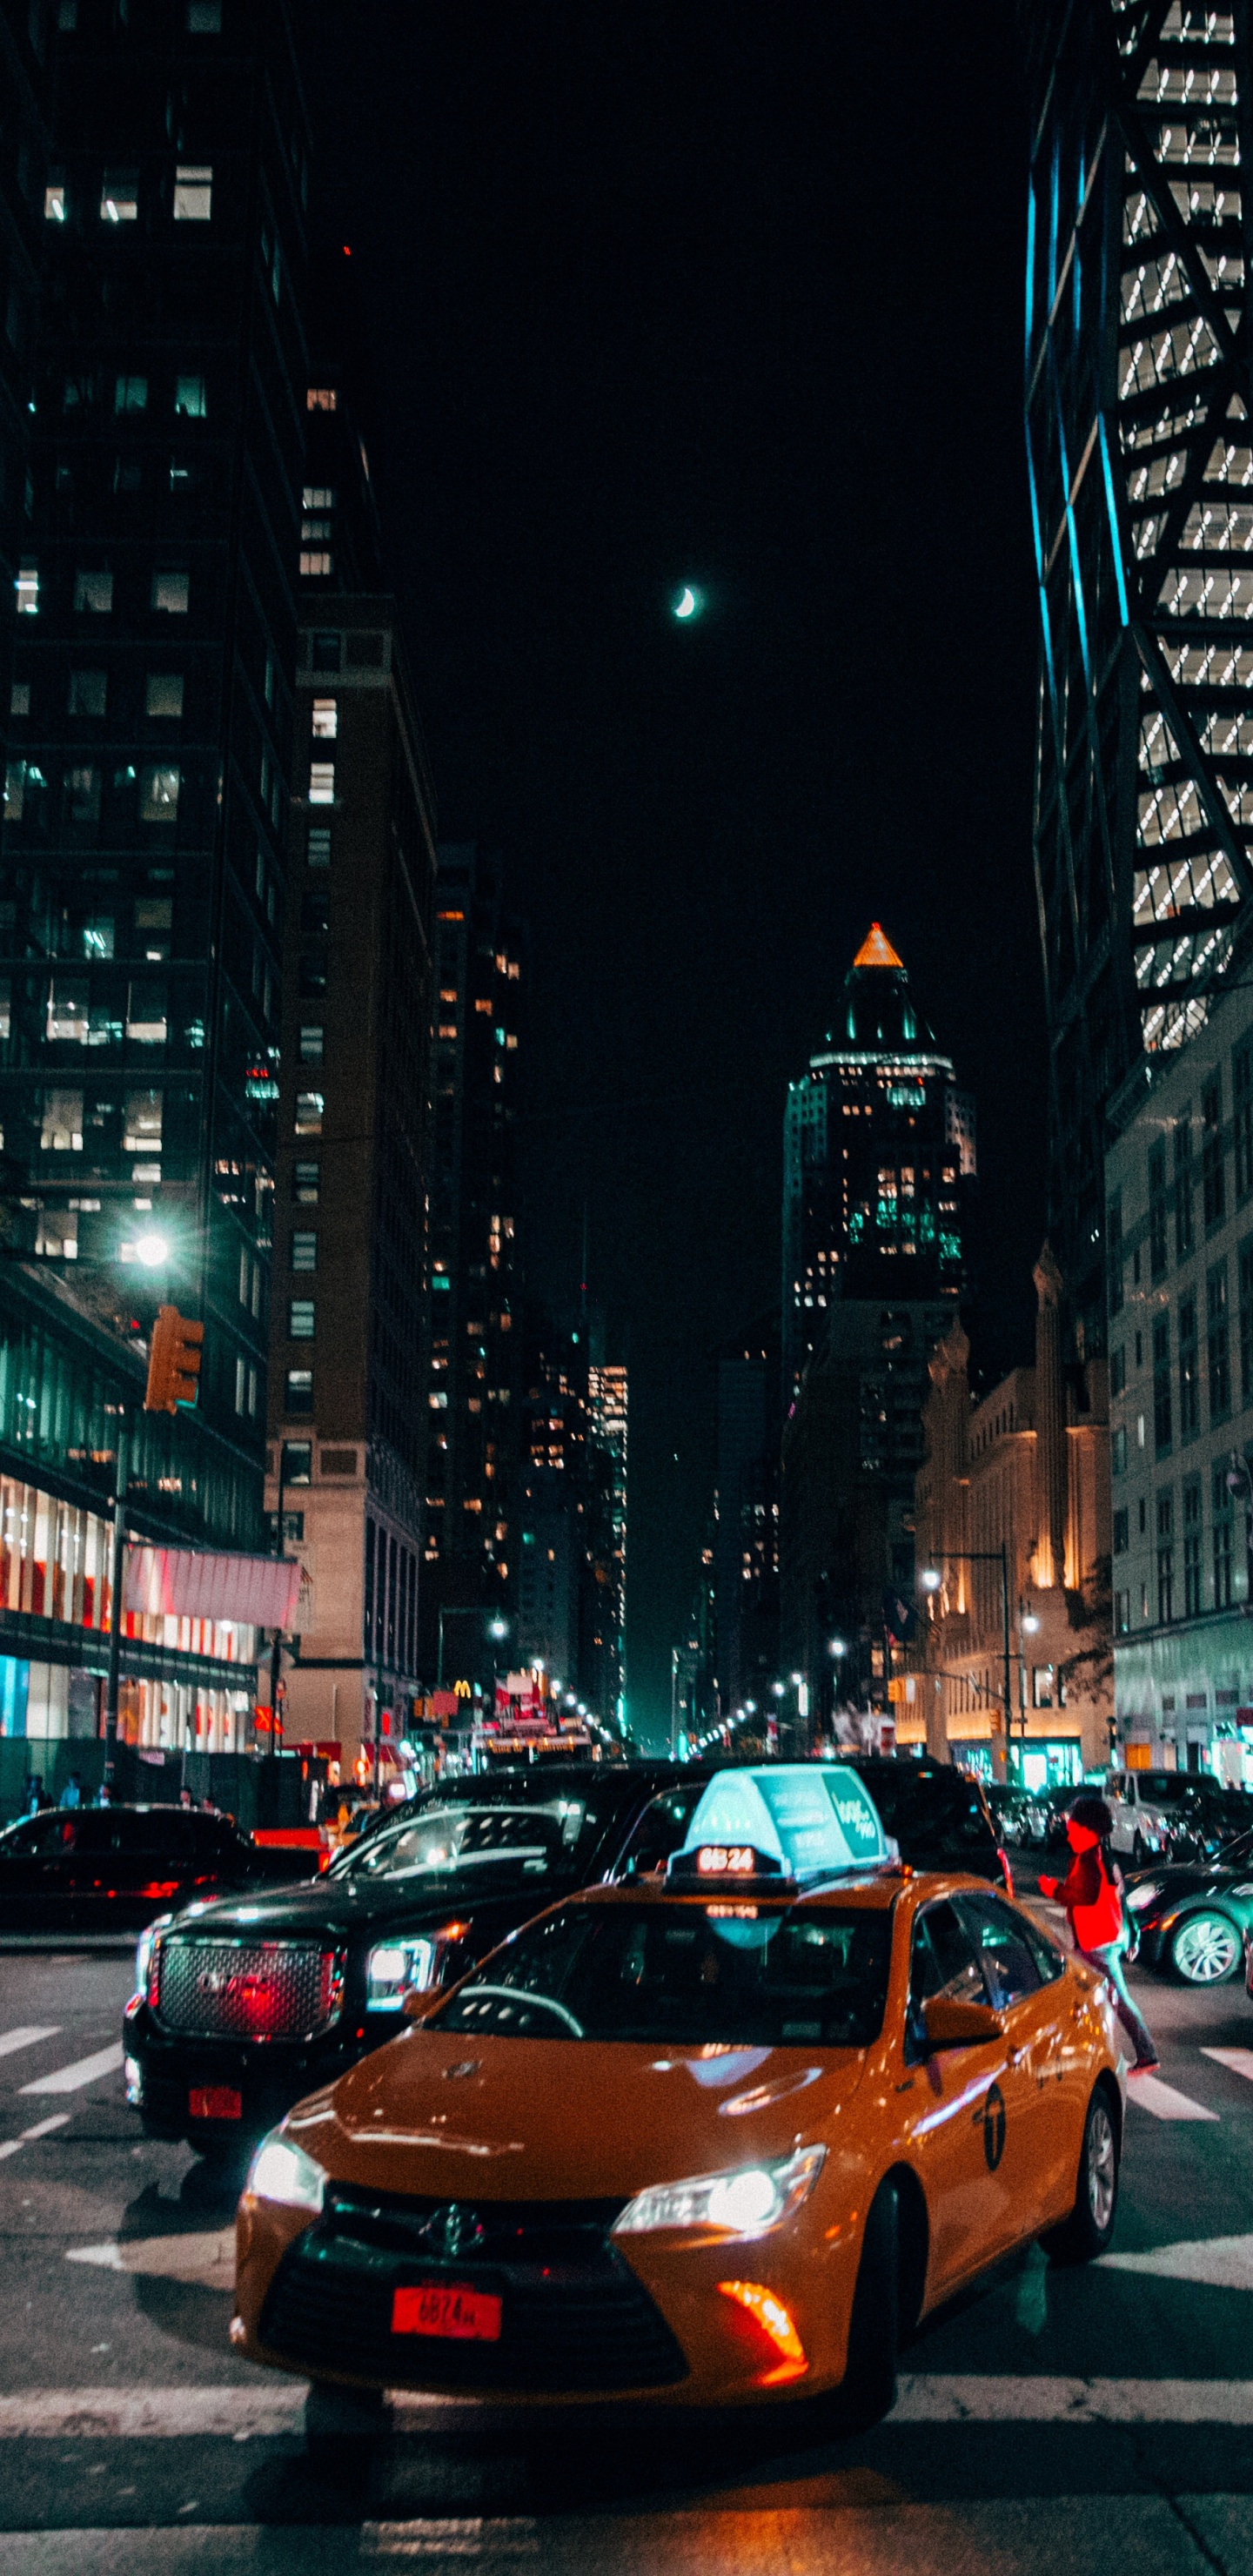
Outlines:
[[[915,1489],[923,1641],[897,1736],[1042,1793],[1109,1762],[1114,1656],[1106,1363],[1065,1365],[1049,1244],[1034,1283],[1034,1368],[972,1399],[957,1316],[931,1352]]]

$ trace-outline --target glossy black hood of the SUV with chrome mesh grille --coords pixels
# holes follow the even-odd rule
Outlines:
[[[513,1922],[529,1922],[572,1886],[578,1886],[575,1875],[562,1878],[554,1870],[539,1875],[508,1860],[490,1870],[480,1862],[472,1870],[423,1870],[405,1878],[353,1873],[296,1880],[296,1886],[276,1888],[271,1896],[222,1896],[204,1909],[186,1909],[178,1924],[186,1929],[193,1919],[211,1932],[253,1932],[260,1940],[294,1940],[302,1932],[343,1932],[348,1937],[374,1927],[420,1932],[425,1924],[446,1922],[449,1914],[482,1914],[485,1906],[498,1904],[510,1906]]]

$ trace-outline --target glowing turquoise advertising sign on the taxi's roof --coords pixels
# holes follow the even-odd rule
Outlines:
[[[696,1801],[668,1875],[828,1878],[874,1870],[892,1857],[866,1785],[843,1762],[771,1762],[724,1770]]]

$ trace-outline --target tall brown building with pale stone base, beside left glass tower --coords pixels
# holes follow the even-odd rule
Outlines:
[[[302,590],[266,1502],[302,1561],[284,1739],[345,1767],[420,1680],[436,832],[394,600]]]

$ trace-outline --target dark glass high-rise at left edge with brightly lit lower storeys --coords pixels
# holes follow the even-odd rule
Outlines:
[[[98,1530],[160,1301],[204,1319],[201,1396],[137,1414],[129,1522],[263,1546],[309,137],[284,0],[44,23],[0,845],[3,1698],[64,1731],[93,1726]],[[126,1643],[124,1734],[240,1749],[253,1631],[160,1625]]]

